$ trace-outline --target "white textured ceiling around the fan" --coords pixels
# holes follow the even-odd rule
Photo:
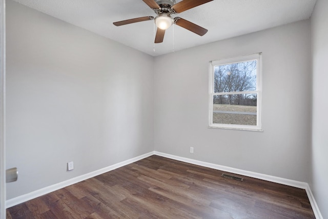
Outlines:
[[[156,16],[142,0],[14,1],[152,56],[308,19],[316,2],[316,0],[214,0],[173,16],[182,17],[208,29],[207,34],[199,36],[174,25],[166,31],[163,43],[154,45],[153,21],[120,27],[112,24],[135,17]]]

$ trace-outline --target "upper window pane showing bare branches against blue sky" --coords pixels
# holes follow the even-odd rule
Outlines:
[[[256,90],[257,61],[214,66],[214,92]]]

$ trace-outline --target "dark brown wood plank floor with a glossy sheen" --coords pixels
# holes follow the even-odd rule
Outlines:
[[[7,209],[7,218],[315,218],[303,189],[150,156]]]

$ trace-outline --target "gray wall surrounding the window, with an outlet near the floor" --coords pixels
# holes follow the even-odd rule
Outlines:
[[[309,182],[310,22],[155,58],[155,150]],[[262,52],[263,132],[208,128],[209,61]],[[194,153],[189,148],[194,147]]]

